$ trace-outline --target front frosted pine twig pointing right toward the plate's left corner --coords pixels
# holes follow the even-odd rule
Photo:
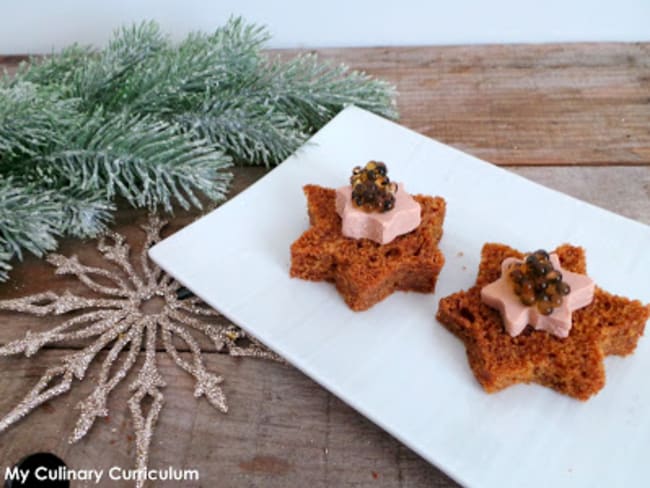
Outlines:
[[[231,179],[222,171],[230,158],[151,117],[89,120],[65,147],[34,161],[34,170],[84,191],[101,189],[108,199],[121,196],[134,207],[201,208],[197,193],[223,200]]]

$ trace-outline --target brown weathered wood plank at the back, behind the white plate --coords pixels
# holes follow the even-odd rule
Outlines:
[[[496,164],[650,164],[650,43],[315,52],[392,81],[400,123]]]

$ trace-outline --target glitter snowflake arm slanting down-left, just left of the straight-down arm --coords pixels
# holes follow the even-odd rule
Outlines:
[[[122,365],[117,372],[109,380],[108,375],[113,363],[117,360],[117,357],[129,342],[131,343],[131,348],[129,349],[126,358],[123,360]],[[138,354],[140,353],[141,345],[141,324],[135,324],[128,333],[122,334],[122,336],[118,337],[118,340],[115,341],[113,347],[106,356],[106,359],[104,359],[104,362],[102,363],[102,369],[99,374],[97,386],[85,400],[82,400],[77,404],[77,408],[81,410],[81,413],[79,414],[79,419],[77,420],[74,432],[69,438],[71,443],[77,442],[83,438],[93,426],[97,417],[106,417],[108,415],[108,407],[106,406],[108,395],[113,388],[115,388],[126,377],[135,364],[138,359]]]

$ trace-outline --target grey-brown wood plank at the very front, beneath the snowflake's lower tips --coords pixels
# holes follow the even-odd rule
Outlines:
[[[0,412],[9,411],[63,354],[45,351],[38,361],[0,358]],[[168,356],[158,356],[167,386],[150,467],[198,469],[200,483],[152,486],[456,486],[290,366],[221,354],[206,354],[205,359],[211,370],[225,377],[230,406],[226,415],[205,399],[195,400],[191,378]],[[91,366],[86,381],[75,381],[70,393],[2,434],[3,473],[6,466],[36,451],[53,452],[75,469],[133,466],[134,437],[126,405],[129,379],[111,395],[109,417],[98,419],[79,443],[67,442],[78,415],[74,407],[90,393],[99,364]]]

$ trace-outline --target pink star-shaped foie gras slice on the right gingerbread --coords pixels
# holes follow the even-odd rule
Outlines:
[[[508,269],[513,263],[521,263],[520,259],[504,259],[501,263],[501,277],[481,289],[481,299],[501,313],[503,324],[512,337],[521,334],[528,324],[557,337],[568,337],[572,325],[571,313],[586,307],[594,298],[595,284],[591,278],[563,269],[557,254],[551,254],[550,258],[553,267],[562,273],[562,280],[571,287],[571,292],[563,297],[562,305],[550,315],[542,315],[535,305],[524,305],[515,294]]]

